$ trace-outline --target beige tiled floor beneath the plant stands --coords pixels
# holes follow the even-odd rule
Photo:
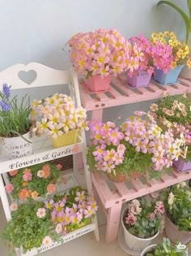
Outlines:
[[[45,253],[39,254],[41,256],[129,256],[125,253],[117,241],[112,244],[106,244],[104,241],[105,234],[105,218],[104,213],[99,210],[99,230],[100,230],[100,241],[96,241],[93,232],[90,232],[84,236],[79,237],[73,241],[67,242],[65,245],[57,246],[54,249],[50,249]],[[2,209],[2,204],[0,203],[0,231],[6,224],[6,218]],[[5,245],[3,245],[0,239],[0,256],[8,256],[8,250]],[[14,255],[15,256],[15,255]]]

